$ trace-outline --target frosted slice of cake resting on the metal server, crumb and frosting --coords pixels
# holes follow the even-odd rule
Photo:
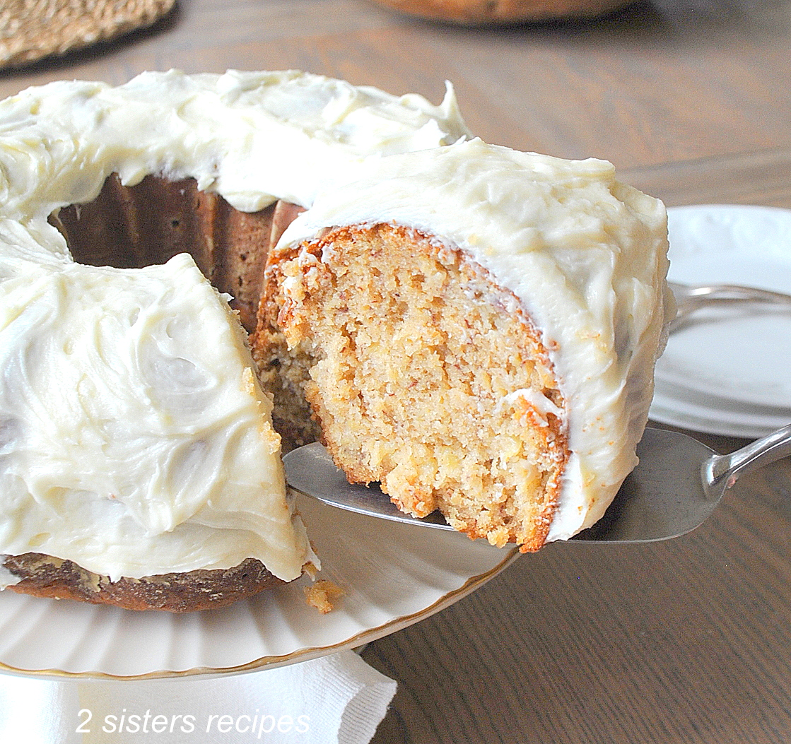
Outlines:
[[[269,256],[253,352],[277,425],[494,545],[588,527],[648,415],[664,207],[604,161],[478,140],[360,176]]]

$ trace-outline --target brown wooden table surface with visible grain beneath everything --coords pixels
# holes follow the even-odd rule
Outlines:
[[[441,99],[483,138],[606,157],[669,205],[791,207],[791,12],[472,30],[365,0],[180,0],[149,31],[0,74],[296,67]],[[729,451],[739,440],[700,436]],[[375,742],[791,741],[791,465],[743,478],[693,534],[547,546],[364,658],[399,682]]]

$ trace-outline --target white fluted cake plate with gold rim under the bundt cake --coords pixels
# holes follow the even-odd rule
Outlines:
[[[0,670],[48,677],[217,676],[353,648],[406,628],[519,555],[463,534],[343,512],[301,497],[323,561],[346,591],[320,614],[302,580],[221,610],[133,612],[0,591]]]

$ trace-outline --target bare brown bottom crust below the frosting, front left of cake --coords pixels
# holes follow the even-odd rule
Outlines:
[[[77,599],[127,610],[192,612],[224,607],[282,584],[260,561],[248,558],[234,568],[167,573],[111,581],[72,561],[25,553],[8,556],[3,567],[21,581],[8,589],[19,594]]]

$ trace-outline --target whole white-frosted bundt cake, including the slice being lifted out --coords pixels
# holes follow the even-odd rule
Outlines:
[[[449,86],[29,89],[0,104],[0,194],[15,591],[183,611],[296,579],[318,559],[281,444],[522,550],[634,466],[664,208],[604,161],[471,139]]]

